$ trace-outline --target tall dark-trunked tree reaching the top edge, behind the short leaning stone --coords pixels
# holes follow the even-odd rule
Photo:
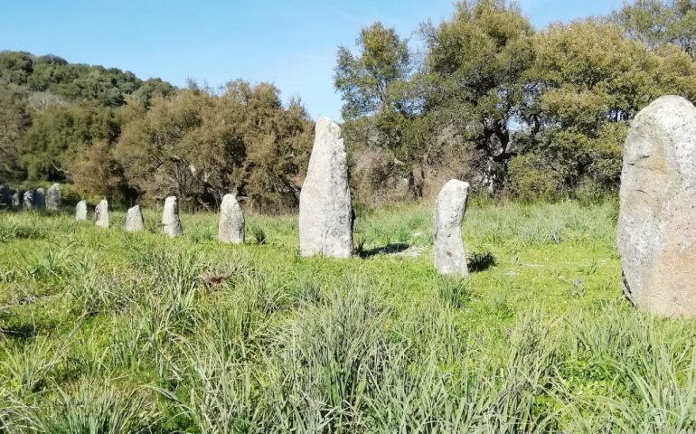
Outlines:
[[[526,127],[527,71],[534,60],[533,30],[506,0],[457,5],[454,16],[426,25],[426,110],[435,129],[474,146],[491,193],[503,186],[515,154],[512,127]]]

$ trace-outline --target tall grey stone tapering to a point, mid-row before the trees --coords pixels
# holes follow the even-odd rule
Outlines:
[[[353,253],[353,205],[341,127],[316,122],[315,145],[300,193],[300,252],[349,258]]]

